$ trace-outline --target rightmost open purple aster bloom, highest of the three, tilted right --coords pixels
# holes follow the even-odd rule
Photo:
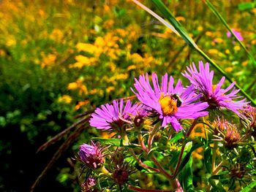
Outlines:
[[[246,99],[234,101],[234,99],[241,98],[241,96],[236,95],[239,90],[233,88],[236,82],[231,83],[226,89],[222,89],[221,87],[225,81],[225,77],[222,77],[217,85],[213,84],[214,71],[210,72],[208,63],[204,66],[203,61],[199,61],[199,72],[193,63],[192,66],[187,66],[187,72],[183,75],[192,83],[195,93],[202,94],[200,99],[208,102],[209,109],[225,107],[240,115],[238,110],[242,110],[247,104]],[[230,91],[231,88],[233,88],[232,91]]]

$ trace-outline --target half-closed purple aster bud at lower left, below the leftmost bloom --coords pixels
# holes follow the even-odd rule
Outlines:
[[[99,168],[105,161],[102,150],[104,147],[99,146],[99,142],[96,144],[91,141],[91,145],[80,145],[79,160],[91,169]]]

